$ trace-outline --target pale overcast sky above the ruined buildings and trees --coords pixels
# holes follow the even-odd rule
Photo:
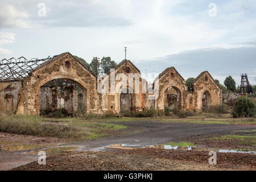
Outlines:
[[[207,70],[237,84],[247,73],[255,84],[256,1],[0,1],[0,60],[71,52],[89,63],[94,56],[119,63],[125,46],[142,73],[173,66],[185,79]]]

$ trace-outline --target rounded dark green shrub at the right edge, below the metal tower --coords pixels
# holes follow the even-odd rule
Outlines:
[[[232,110],[234,118],[239,117],[255,117],[256,108],[254,102],[248,97],[240,97],[235,102]]]

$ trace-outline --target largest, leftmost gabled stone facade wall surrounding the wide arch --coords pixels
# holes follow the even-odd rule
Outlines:
[[[67,64],[67,61],[69,64]],[[57,78],[68,78],[86,89],[86,111],[98,112],[96,76],[84,68],[70,53],[63,53],[35,69],[23,80],[24,99],[18,107],[19,114],[40,114],[40,87]],[[61,102],[61,101],[57,101]]]

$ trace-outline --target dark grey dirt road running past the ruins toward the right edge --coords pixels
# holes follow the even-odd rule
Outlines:
[[[99,151],[110,144],[126,144],[131,146],[150,146],[168,142],[189,141],[194,137],[208,135],[225,135],[235,130],[253,130],[255,125],[217,125],[196,123],[174,123],[156,121],[118,122],[121,125],[134,127],[137,133],[127,133],[104,137],[86,142],[73,143],[81,151]]]

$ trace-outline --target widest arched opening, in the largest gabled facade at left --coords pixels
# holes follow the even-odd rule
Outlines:
[[[87,90],[68,78],[57,78],[40,86],[40,115],[55,111],[66,115],[86,114]]]

